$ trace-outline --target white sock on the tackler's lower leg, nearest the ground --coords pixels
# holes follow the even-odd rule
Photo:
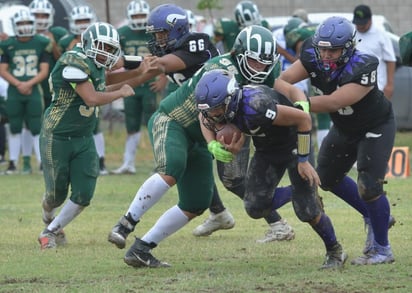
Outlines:
[[[153,242],[158,244],[187,223],[189,223],[189,218],[177,205],[175,205],[160,216],[152,229],[142,237],[142,240],[147,243]]]

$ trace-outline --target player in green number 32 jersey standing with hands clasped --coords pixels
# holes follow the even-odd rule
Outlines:
[[[39,154],[39,133],[44,109],[41,82],[47,79],[52,42],[36,34],[35,17],[28,7],[12,18],[15,36],[0,42],[0,75],[9,83],[6,111],[10,123],[9,166],[6,174],[17,172],[23,125],[33,136]],[[32,149],[28,151],[31,155]],[[25,154],[24,154],[25,155]],[[23,173],[31,173],[30,155],[24,158]]]

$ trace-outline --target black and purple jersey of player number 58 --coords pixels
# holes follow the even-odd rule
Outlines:
[[[341,131],[348,134],[364,133],[386,122],[392,115],[391,102],[377,86],[376,57],[356,50],[348,63],[327,75],[319,68],[312,39],[308,39],[302,47],[300,60],[309,73],[316,95],[329,95],[348,83],[374,86],[373,90],[357,103],[330,113],[334,125]]]

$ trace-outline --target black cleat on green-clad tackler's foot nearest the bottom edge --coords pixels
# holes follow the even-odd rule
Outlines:
[[[136,237],[135,242],[127,251],[124,262],[132,267],[148,267],[148,268],[167,268],[170,264],[162,262],[155,258],[150,251],[157,245],[155,243],[147,243]]]

